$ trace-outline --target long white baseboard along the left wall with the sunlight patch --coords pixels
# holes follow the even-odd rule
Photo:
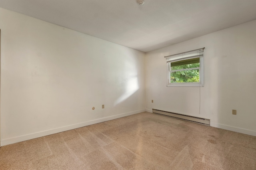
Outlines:
[[[105,121],[113,120],[113,119],[117,119],[117,118],[122,118],[122,117],[125,117],[125,116],[130,116],[132,114],[137,114],[137,113],[141,113],[141,112],[145,112],[145,111],[146,111],[146,109],[136,110],[136,111],[133,111],[133,112],[122,113],[122,114],[118,114],[118,115],[114,115],[114,116],[108,116],[108,117],[104,117],[104,118],[100,118],[100,119],[89,120],[89,121],[78,123],[78,124],[63,126],[63,127],[60,127],[60,128],[45,130],[45,131],[42,131],[42,132],[36,132],[36,133],[32,133],[32,134],[17,136],[17,137],[14,137],[14,138],[3,139],[3,140],[1,140],[1,146],[8,145],[8,144],[14,144],[14,143],[17,143],[17,142],[22,142],[22,141],[30,140],[30,139],[34,139],[34,138],[40,138],[42,136],[47,136],[47,135],[50,135],[50,134],[56,134],[56,133],[64,132],[64,131],[67,131],[67,130],[81,128],[81,127],[84,127],[84,126],[88,126],[88,125],[92,125],[92,124],[96,124],[96,123],[100,123],[100,122],[105,122]]]

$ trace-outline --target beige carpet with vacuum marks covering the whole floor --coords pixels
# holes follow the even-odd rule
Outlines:
[[[256,170],[256,137],[148,112],[0,148],[1,170]]]

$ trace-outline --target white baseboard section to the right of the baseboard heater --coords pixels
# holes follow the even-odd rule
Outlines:
[[[230,130],[230,131],[238,132],[238,133],[242,133],[242,134],[248,134],[251,136],[256,136],[256,131],[248,130],[248,129],[244,129],[244,128],[237,128],[237,127],[227,126],[224,124],[218,124],[218,123],[214,123],[214,122],[210,122],[210,126],[215,127],[215,128]]]

